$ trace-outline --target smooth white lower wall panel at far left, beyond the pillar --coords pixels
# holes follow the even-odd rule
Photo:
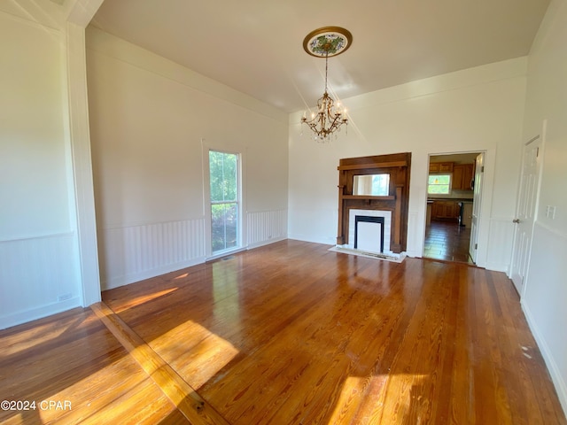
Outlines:
[[[0,328],[81,305],[74,232],[0,242]]]

